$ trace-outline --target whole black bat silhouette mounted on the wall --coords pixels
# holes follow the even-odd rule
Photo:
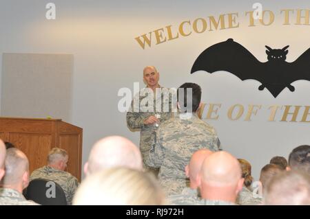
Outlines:
[[[310,48],[295,62],[286,62],[288,47],[271,49],[266,46],[268,61],[260,62],[245,47],[229,38],[205,49],[194,62],[191,73],[229,71],[241,80],[258,80],[262,83],[258,87],[260,91],[266,88],[277,97],[285,87],[295,91],[292,82],[310,80]]]

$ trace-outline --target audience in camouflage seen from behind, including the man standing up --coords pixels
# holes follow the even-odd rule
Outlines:
[[[310,205],[309,145],[294,148],[288,161],[271,158],[257,183],[251,163],[225,151],[216,130],[196,115],[200,87],[181,87],[192,89],[193,111],[180,112],[156,130],[145,163],[159,168],[158,176],[145,170],[141,151],[125,137],[94,143],[81,185],[65,171],[65,150],[52,148],[47,165],[30,175],[25,154],[0,139],[0,205],[38,205],[39,200],[23,196],[29,182],[38,179],[57,185],[68,205]]]

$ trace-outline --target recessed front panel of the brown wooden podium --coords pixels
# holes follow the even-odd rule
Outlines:
[[[52,141],[50,135],[10,133],[9,141],[28,157],[30,173],[43,167],[43,165],[47,165],[48,152]]]

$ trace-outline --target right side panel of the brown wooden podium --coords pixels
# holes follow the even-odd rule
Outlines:
[[[79,134],[59,135],[59,147],[66,150],[69,156],[67,171],[81,180],[81,148],[79,146]]]

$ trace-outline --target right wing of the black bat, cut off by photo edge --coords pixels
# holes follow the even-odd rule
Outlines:
[[[289,84],[296,80],[310,81],[310,48],[304,51],[295,62],[291,62],[289,69],[290,72],[286,78]]]

